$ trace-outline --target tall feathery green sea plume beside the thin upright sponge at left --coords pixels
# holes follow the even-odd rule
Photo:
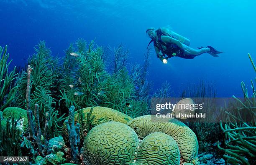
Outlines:
[[[44,41],[40,41],[34,48],[36,54],[28,58],[28,64],[33,71],[27,70],[22,72],[18,78],[18,96],[16,102],[19,107],[25,108],[26,90],[28,82],[28,71],[31,80],[31,105],[36,103],[40,106],[39,119],[45,121],[46,112],[49,113],[49,134],[56,136],[61,132],[59,124],[64,120],[64,114],[59,115],[56,109],[56,100],[58,99],[57,82],[59,80],[59,58],[51,56],[51,50],[46,46]],[[34,107],[31,107],[34,111]],[[44,128],[44,123],[40,123]]]

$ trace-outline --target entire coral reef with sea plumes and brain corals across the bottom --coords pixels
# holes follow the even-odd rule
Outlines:
[[[151,98],[172,95],[168,83],[151,94],[150,52],[143,65],[128,65],[123,45],[78,39],[59,59],[40,41],[26,69],[10,70],[7,46],[0,47],[0,156],[40,165],[255,164],[254,80],[251,95],[241,82],[244,100],[233,96],[236,103],[222,108],[225,121],[153,122]],[[187,93],[181,99],[216,92],[202,82]]]

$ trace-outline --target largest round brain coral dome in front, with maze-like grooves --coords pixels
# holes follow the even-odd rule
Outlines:
[[[120,122],[106,122],[92,128],[84,139],[84,163],[129,165],[139,145],[133,129]]]

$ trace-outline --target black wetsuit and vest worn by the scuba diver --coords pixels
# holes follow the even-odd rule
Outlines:
[[[157,34],[158,40],[154,40],[154,46],[157,47],[159,50],[161,50],[163,55],[167,55],[168,58],[177,56],[177,57],[186,58],[186,59],[193,59],[193,58],[195,58],[195,56],[197,56],[197,55],[185,55],[184,50],[179,48],[178,45],[176,45],[174,43],[163,42],[161,40],[161,36],[163,36],[163,35],[166,35],[169,37],[172,37],[172,36],[165,32],[162,32],[161,29],[156,30],[156,34]],[[174,37],[172,37],[172,38],[174,38]],[[164,45],[166,47],[166,50],[164,50],[162,45]]]

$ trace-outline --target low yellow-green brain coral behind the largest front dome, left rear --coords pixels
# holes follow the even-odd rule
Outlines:
[[[87,120],[87,114],[90,112],[91,107],[83,108],[80,110],[82,112],[82,123],[80,124],[81,128],[87,128],[86,126],[86,120]],[[75,122],[79,122],[78,117],[78,111],[75,112]],[[93,107],[92,115],[94,116],[92,120],[92,127],[95,127],[96,125],[99,125],[104,122],[110,122],[110,121],[116,121],[116,122],[122,122],[124,124],[127,124],[128,121],[130,121],[132,118],[128,115],[125,115],[122,112],[119,112],[117,110],[113,110],[108,107]],[[81,133],[81,132],[80,132]],[[69,146],[69,139],[65,138],[68,137],[67,133],[67,127],[64,123],[63,129],[62,129],[62,136],[64,138],[64,142],[67,146]],[[80,135],[80,137],[83,137]]]

